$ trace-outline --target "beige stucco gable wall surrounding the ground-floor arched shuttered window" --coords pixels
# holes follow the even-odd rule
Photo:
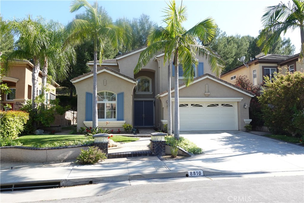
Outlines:
[[[106,85],[104,85],[104,80],[106,80]],[[93,93],[93,76],[87,79],[83,79],[79,82],[75,82],[74,86],[77,93],[77,127],[85,127],[85,93]],[[132,122],[132,104],[133,104],[133,89],[135,84],[129,82],[125,79],[119,78],[116,75],[112,75],[108,72],[102,72],[97,75],[97,93],[101,91],[109,91],[115,93],[123,92],[124,93],[124,121],[127,124],[133,124]],[[109,121],[110,124],[107,126],[108,129],[113,129],[117,131],[118,128],[122,128],[121,122],[119,126],[116,126],[115,123],[118,121]],[[105,121],[103,121],[99,127],[105,127]],[[87,125],[89,127],[90,125]]]

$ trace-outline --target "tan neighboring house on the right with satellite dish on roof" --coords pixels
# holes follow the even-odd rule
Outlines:
[[[274,72],[303,72],[304,64],[299,54],[293,56],[278,54],[259,54],[246,65],[240,65],[223,73],[220,78],[235,84],[237,76],[246,75],[254,86],[259,86],[264,81],[264,76],[272,79]]]

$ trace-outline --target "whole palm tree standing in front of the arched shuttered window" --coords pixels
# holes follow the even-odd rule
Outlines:
[[[70,12],[78,11],[80,8],[86,9],[87,19],[74,19],[66,26],[70,33],[68,41],[80,44],[85,38],[94,40],[94,65],[93,65],[93,127],[98,127],[97,117],[97,43],[99,44],[99,62],[102,63],[102,54],[105,41],[109,40],[112,47],[117,49],[120,42],[131,43],[130,32],[127,32],[124,25],[120,22],[116,24],[103,20],[103,16],[98,14],[86,0],[74,0],[71,3]],[[128,44],[128,45],[129,45]]]

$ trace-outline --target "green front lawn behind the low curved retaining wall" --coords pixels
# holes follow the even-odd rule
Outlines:
[[[139,138],[126,137],[121,135],[114,135],[111,137],[114,142],[134,142]],[[72,142],[86,140],[84,135],[25,135],[16,139],[21,142],[22,146],[30,147],[34,143],[53,144],[54,142]]]

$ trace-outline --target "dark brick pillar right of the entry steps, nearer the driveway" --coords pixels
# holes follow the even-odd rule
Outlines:
[[[151,133],[151,151],[152,156],[163,156],[166,153],[166,133],[154,132]]]

